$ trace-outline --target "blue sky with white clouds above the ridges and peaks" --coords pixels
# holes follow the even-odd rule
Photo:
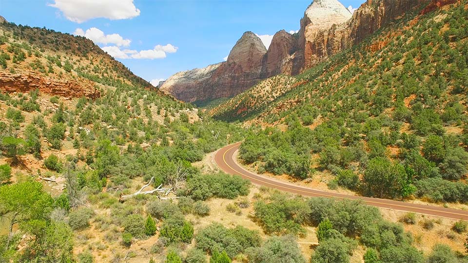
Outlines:
[[[359,7],[365,0],[340,0]],[[93,40],[153,85],[184,70],[223,61],[252,31],[268,46],[297,31],[312,0],[0,0],[9,22]],[[267,47],[268,48],[268,47]]]

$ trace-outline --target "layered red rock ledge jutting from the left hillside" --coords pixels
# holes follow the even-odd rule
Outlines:
[[[73,79],[54,79],[41,77],[34,73],[10,74],[0,71],[0,90],[12,92],[30,92],[39,89],[40,92],[59,95],[62,97],[89,97],[97,98],[100,93],[94,83],[87,79],[80,81]]]

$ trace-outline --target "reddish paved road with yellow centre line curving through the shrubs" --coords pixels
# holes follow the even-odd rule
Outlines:
[[[419,214],[427,214],[431,216],[445,217],[451,219],[463,219],[468,220],[468,211],[450,209],[445,207],[433,207],[429,205],[419,205],[405,203],[389,199],[379,199],[363,196],[354,196],[340,193],[327,192],[322,190],[316,190],[312,188],[306,188],[297,186],[284,181],[275,180],[269,177],[261,176],[251,171],[248,171],[239,166],[234,160],[234,152],[239,149],[240,142],[225,146],[219,149],[215,154],[215,162],[226,173],[237,174],[248,180],[253,184],[276,188],[285,192],[291,192],[295,194],[301,194],[304,196],[323,196],[337,199],[352,199],[362,200],[366,204],[374,207],[383,207],[389,209],[396,209],[408,212],[414,212]]]

